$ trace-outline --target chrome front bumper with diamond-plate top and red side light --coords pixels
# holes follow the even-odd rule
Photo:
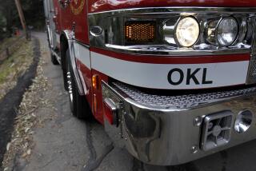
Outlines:
[[[102,94],[106,131],[151,165],[179,165],[256,138],[256,87],[159,96],[102,82]]]

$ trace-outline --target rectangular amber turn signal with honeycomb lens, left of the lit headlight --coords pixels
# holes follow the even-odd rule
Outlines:
[[[156,32],[155,22],[126,22],[125,38],[126,42],[142,43],[154,42]]]

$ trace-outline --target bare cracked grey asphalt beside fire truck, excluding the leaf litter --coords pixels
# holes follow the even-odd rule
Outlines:
[[[50,63],[46,34],[35,34],[41,42],[45,75],[52,89],[45,98],[54,100],[56,117],[35,130],[35,147],[24,170],[97,170],[97,171],[251,171],[256,170],[256,141],[215,153],[186,165],[159,167],[144,165],[131,157],[126,149],[113,146],[102,125],[96,121],[79,121],[72,117],[69,101],[62,85],[60,66]],[[50,115],[47,109],[38,113]]]

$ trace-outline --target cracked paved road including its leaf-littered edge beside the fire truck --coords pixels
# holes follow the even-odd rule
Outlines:
[[[38,75],[23,96],[12,141],[7,145],[5,171],[256,170],[256,141],[185,165],[160,167],[135,160],[126,149],[114,146],[97,121],[80,121],[72,116],[61,67],[50,62],[46,34],[34,36],[41,46]]]

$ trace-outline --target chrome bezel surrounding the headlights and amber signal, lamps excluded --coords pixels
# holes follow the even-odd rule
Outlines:
[[[184,13],[186,11],[186,13]],[[181,18],[196,18],[200,34],[193,46],[181,46],[175,38],[175,26]],[[207,38],[206,30],[210,21],[233,17],[238,21],[239,33],[230,46],[220,46]],[[248,54],[254,38],[256,8],[143,8],[132,10],[114,10],[89,14],[89,29],[102,27],[102,35],[90,34],[90,45],[106,50],[128,54],[152,54],[166,56],[198,56],[218,54]],[[156,22],[154,42],[126,42],[123,27],[130,21]]]

